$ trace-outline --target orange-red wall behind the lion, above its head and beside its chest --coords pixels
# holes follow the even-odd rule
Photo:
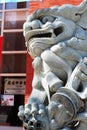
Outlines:
[[[73,4],[78,5],[81,3],[82,0],[42,0],[42,2],[30,2],[29,4],[29,14],[32,13],[34,10],[40,8],[47,8],[54,5],[62,5],[62,4]],[[32,59],[30,58],[29,54],[27,54],[27,66],[26,66],[26,95],[25,95],[25,102],[27,101],[28,96],[32,90],[32,78],[33,78],[33,69],[32,69]]]

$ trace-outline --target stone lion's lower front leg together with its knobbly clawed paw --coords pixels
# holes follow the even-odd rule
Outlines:
[[[45,98],[45,92],[33,89],[27,104],[19,107],[18,116],[23,121],[25,130],[49,130]]]

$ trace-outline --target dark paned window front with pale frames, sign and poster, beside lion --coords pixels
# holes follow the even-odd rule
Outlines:
[[[23,23],[28,10],[29,2],[0,4],[0,125],[22,126],[17,112],[26,88]]]

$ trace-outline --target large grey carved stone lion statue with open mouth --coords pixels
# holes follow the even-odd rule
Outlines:
[[[87,129],[87,0],[36,10],[23,25],[33,58],[25,130]]]

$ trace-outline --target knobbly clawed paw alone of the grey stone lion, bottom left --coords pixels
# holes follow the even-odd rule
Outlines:
[[[23,121],[25,130],[49,130],[48,116],[43,104],[32,103],[25,107],[20,106],[18,116]]]

